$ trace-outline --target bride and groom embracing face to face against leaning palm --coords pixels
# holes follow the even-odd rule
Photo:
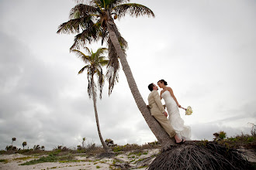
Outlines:
[[[175,138],[176,144],[182,144],[191,138],[191,129],[184,125],[184,121],[179,114],[178,104],[173,90],[167,87],[168,83],[165,80],[157,82],[158,87],[162,88],[161,94],[157,92],[158,87],[154,83],[148,85],[151,91],[147,100],[151,115],[161,124],[161,127],[169,134],[170,138]],[[168,113],[164,110],[161,99],[164,99]],[[168,117],[169,116],[169,117]]]

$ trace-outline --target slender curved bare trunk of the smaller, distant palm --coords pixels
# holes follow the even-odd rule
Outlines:
[[[93,72],[94,73],[94,72]],[[98,117],[98,111],[97,111],[97,106],[96,106],[96,95],[94,93],[94,80],[93,80],[93,75],[92,75],[92,99],[93,99],[93,106],[94,106],[94,111],[95,111],[95,119],[96,119],[96,124],[97,124],[97,129],[98,129],[98,134],[99,134],[99,139],[102,142],[102,146],[105,149],[105,151],[111,151],[111,148],[106,145],[105,141],[102,138],[102,133],[100,132],[99,128],[99,117]]]

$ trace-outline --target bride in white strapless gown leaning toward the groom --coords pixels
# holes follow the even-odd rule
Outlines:
[[[175,129],[176,133],[180,138],[185,138],[190,140],[191,138],[191,129],[189,126],[184,125],[184,121],[179,114],[178,107],[182,107],[178,104],[178,101],[173,93],[171,87],[167,87],[168,83],[164,80],[159,80],[157,82],[158,87],[162,88],[160,97],[164,99],[165,106],[168,110],[168,120],[171,123],[171,126]]]

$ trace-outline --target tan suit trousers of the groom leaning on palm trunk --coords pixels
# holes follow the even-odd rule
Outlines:
[[[161,127],[169,134],[170,138],[173,138],[176,134],[175,129],[172,128],[170,121],[168,118],[164,116],[164,114],[156,114],[153,115],[154,118],[161,124]]]

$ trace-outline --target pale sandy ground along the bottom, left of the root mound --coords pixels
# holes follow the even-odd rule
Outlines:
[[[76,156],[75,162],[44,162],[36,165],[21,165],[24,162],[29,162],[33,159],[38,159],[43,156],[33,156],[33,155],[0,155],[0,160],[5,160],[5,162],[0,162],[1,170],[26,170],[26,169],[120,169],[127,166],[129,169],[146,169],[145,165],[149,165],[155,158],[155,155],[159,152],[159,149],[146,149],[143,151],[144,154],[141,155],[131,155],[131,152],[126,152],[125,154],[117,155],[112,158],[97,158],[97,157],[82,157]],[[147,154],[146,154],[147,153]]]

